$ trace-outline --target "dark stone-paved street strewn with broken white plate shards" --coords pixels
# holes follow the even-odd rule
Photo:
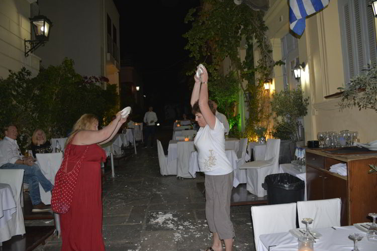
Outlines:
[[[171,130],[160,130],[157,139],[167,149]],[[138,153],[116,164],[116,178],[103,186],[103,236],[106,250],[205,250],[211,234],[205,218],[205,199],[196,179],[178,180],[159,173],[157,148]],[[255,250],[250,206],[231,207],[236,237],[233,250]],[[59,250],[60,239],[51,236],[36,250]]]

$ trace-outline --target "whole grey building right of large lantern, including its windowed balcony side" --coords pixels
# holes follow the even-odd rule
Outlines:
[[[119,88],[119,12],[113,0],[39,0],[38,4],[53,24],[48,44],[35,52],[41,65],[58,65],[67,57],[80,75],[105,76]]]

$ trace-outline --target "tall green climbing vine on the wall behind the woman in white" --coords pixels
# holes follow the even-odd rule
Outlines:
[[[239,88],[249,93],[245,100],[249,105],[245,130],[249,138],[255,136],[255,125],[270,117],[269,96],[263,92],[263,81],[272,77],[274,65],[281,64],[272,59],[263,15],[247,5],[235,5],[233,0],[204,0],[201,7],[187,13],[185,22],[192,22],[192,29],[183,35],[187,39],[185,49],[190,51],[190,57],[196,64],[206,65],[211,77],[210,98],[219,100],[219,110],[228,115],[228,119],[234,114]],[[256,65],[253,39],[260,51]],[[247,48],[245,60],[239,56],[241,41],[245,41]],[[231,66],[221,70],[226,58],[230,59]],[[193,68],[187,74],[193,74],[195,70]],[[243,82],[247,83],[246,87]]]

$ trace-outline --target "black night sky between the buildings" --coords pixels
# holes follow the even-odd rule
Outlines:
[[[142,76],[147,104],[157,112],[169,103],[188,105],[191,93],[179,83],[189,60],[182,35],[191,24],[184,24],[184,17],[200,0],[114,2],[120,14],[121,58],[131,58]]]

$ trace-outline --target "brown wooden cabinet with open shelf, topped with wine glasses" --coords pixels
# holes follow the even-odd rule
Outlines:
[[[308,200],[340,198],[341,225],[369,221],[368,213],[377,212],[377,175],[367,173],[377,155],[330,155],[308,149],[306,160]],[[347,165],[347,176],[329,171],[338,163]]]

